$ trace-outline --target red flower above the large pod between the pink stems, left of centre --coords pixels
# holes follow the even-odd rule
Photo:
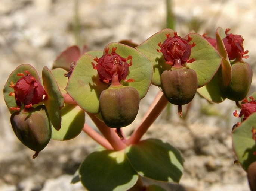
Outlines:
[[[132,56],[129,55],[127,58],[123,58],[115,50],[117,50],[116,47],[112,48],[111,54],[108,54],[109,48],[106,48],[105,54],[101,58],[98,59],[96,57],[94,59],[97,64],[92,63],[92,66],[97,70],[99,79],[102,82],[110,83],[113,76],[117,75],[119,82],[121,80],[133,82],[133,79],[126,80],[129,73],[129,66],[132,65]],[[129,63],[127,63],[128,60],[130,60]]]

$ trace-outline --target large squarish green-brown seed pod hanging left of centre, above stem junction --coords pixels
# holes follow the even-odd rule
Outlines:
[[[108,127],[125,127],[133,122],[139,110],[139,93],[133,87],[117,86],[103,90],[99,109]]]

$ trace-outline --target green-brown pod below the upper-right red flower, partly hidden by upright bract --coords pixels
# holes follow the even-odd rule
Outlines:
[[[220,85],[224,96],[233,101],[241,101],[247,96],[252,83],[252,68],[246,62],[231,65],[232,78],[227,87]]]

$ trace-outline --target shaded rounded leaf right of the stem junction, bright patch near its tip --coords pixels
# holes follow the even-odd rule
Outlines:
[[[142,140],[126,148],[126,155],[139,175],[164,182],[179,182],[183,172],[180,152],[159,139]]]

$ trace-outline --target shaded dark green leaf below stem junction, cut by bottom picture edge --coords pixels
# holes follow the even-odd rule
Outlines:
[[[91,153],[81,163],[79,174],[82,184],[89,191],[126,191],[138,179],[124,150]]]

